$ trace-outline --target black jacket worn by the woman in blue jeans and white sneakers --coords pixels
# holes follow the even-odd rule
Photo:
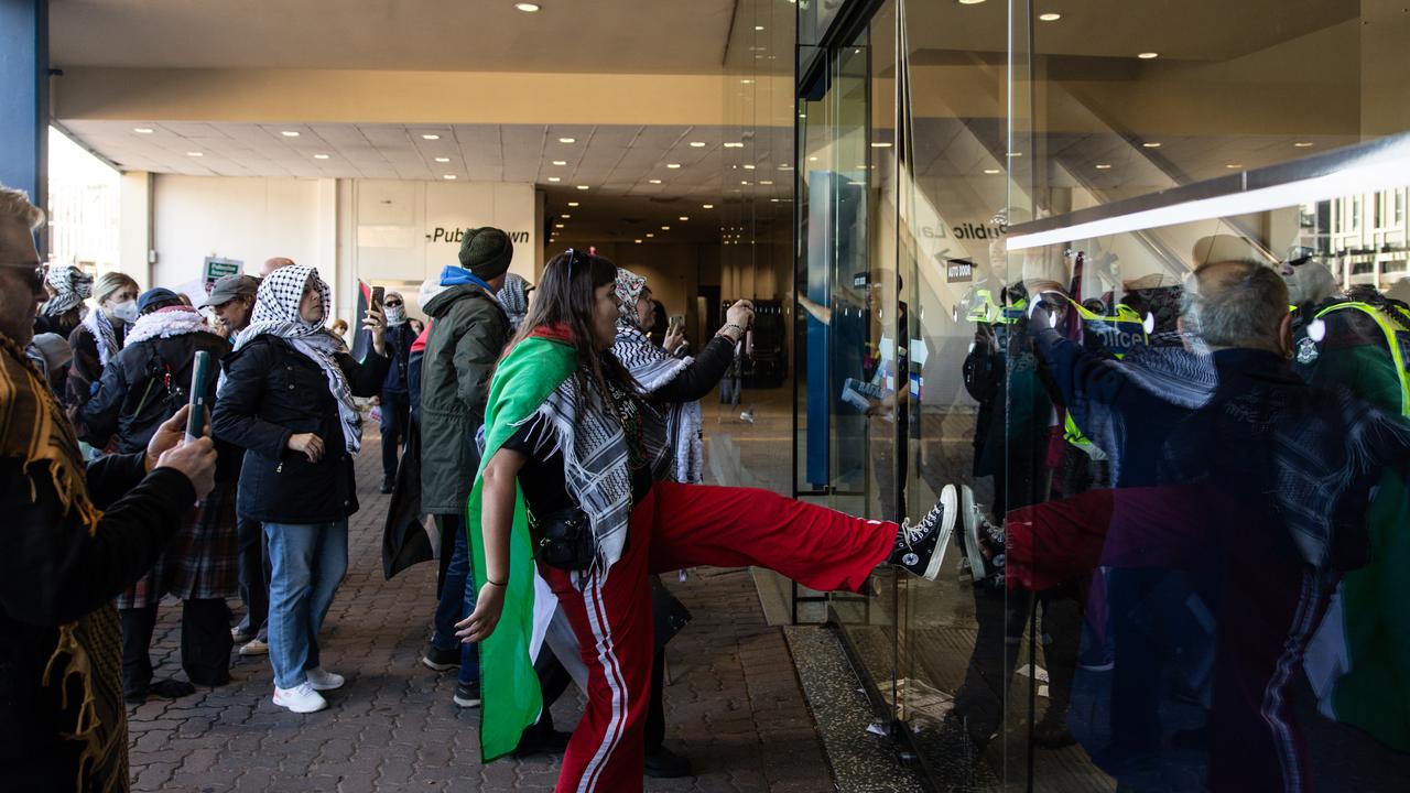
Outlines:
[[[212,429],[217,439],[245,449],[240,515],[275,523],[329,523],[357,512],[352,457],[323,370],[283,339],[268,334],[223,363],[226,384]],[[338,364],[354,395],[381,391],[385,357],[369,351],[358,364],[344,353]],[[289,450],[289,436],[303,432],[323,440],[317,463]]]

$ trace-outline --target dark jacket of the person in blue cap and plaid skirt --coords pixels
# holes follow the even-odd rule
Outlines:
[[[83,440],[103,449],[114,435],[117,450],[130,454],[147,449],[162,422],[190,399],[196,353],[213,363],[230,353],[230,343],[214,333],[183,333],[128,344],[103,368],[103,378],[80,412]],[[206,404],[216,404],[216,371],[206,385]]]

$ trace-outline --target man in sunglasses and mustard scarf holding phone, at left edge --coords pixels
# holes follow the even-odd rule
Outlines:
[[[44,301],[30,237],[42,217],[0,186],[0,779],[6,790],[125,790],[113,597],[210,491],[216,453],[209,439],[178,446],[183,408],[147,449],[85,468],[24,356]]]

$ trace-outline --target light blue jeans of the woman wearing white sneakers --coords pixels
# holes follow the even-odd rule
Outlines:
[[[269,540],[269,663],[293,689],[321,666],[319,629],[348,570],[348,522],[264,523]]]

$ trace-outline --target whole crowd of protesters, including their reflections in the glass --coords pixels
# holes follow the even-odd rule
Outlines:
[[[385,571],[439,563],[419,660],[458,676],[455,706],[481,707],[484,762],[561,753],[558,790],[692,773],[664,745],[663,707],[663,646],[688,615],[657,576],[761,566],[864,593],[878,566],[935,579],[957,523],[976,584],[1005,574],[998,588],[1024,593],[1010,605],[1036,598],[1045,626],[1060,622],[1073,580],[1100,569],[1108,584],[1114,642],[1096,649],[1118,672],[1094,683],[1076,663],[1066,676],[1052,665],[1060,706],[1049,711],[1077,738],[1060,722],[1038,725],[1039,738],[1100,741],[1098,765],[1141,785],[1158,773],[1159,714],[1172,707],[1149,680],[1207,659],[1204,683],[1184,691],[1208,715],[1197,738],[1208,785],[1299,789],[1311,761],[1287,669],[1311,652],[1328,608],[1356,603],[1355,570],[1385,564],[1368,552],[1368,535],[1390,543],[1378,519],[1403,528],[1410,430],[1290,368],[1289,301],[1328,296],[1308,271],[1300,281],[1211,261],[1184,286],[1179,319],[1165,317],[1179,343],[1121,363],[1063,336],[1060,285],[1015,286],[1024,315],[1004,330],[1012,349],[1000,367],[1035,361],[1049,409],[1081,426],[1074,443],[1105,453],[1111,487],[1032,500],[994,522],[945,487],[919,521],[895,523],[702,484],[699,401],[736,367],[749,301],[684,356],[680,336],[651,340],[663,312],[644,278],[567,250],[532,285],[509,272],[510,237],[484,227],[422,284],[424,326],[389,291],[340,333],[313,265],[271,258],[192,305],[123,274],[45,267],[31,237],[41,222],[0,188],[0,776],[20,789],[124,789],[124,700],[223,686],[235,652],[268,655],[275,706],[330,707],[324,694],[345,679],[320,634],[348,569],[369,409],[392,497]],[[219,374],[193,395],[200,353]],[[195,404],[209,406],[197,435]],[[995,507],[1019,504],[1010,495]],[[1204,604],[1208,624],[1139,611],[1163,603],[1152,588]],[[154,680],[164,598],[182,604],[185,680]],[[1022,636],[1011,626],[1025,615],[994,615],[986,626],[981,614],[981,632]],[[1007,677],[1012,662],[977,653],[971,676]],[[998,711],[969,684],[955,714],[981,744]],[[1105,715],[1069,715],[1084,684]],[[550,715],[570,686],[587,697],[571,734]],[[1327,710],[1393,734],[1355,706]]]

